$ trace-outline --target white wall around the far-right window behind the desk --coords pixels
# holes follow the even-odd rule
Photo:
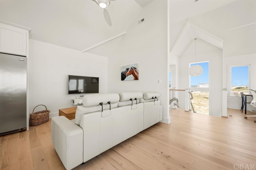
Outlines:
[[[231,90],[231,66],[250,65],[250,84],[249,88],[256,90],[256,53],[238,55],[223,58],[223,87],[228,89],[228,108],[241,109],[241,97],[230,96]],[[249,101],[252,99],[249,99]],[[255,109],[247,104],[248,110]]]

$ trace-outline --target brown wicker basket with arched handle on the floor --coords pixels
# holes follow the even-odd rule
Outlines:
[[[44,105],[40,104],[38,106],[44,106]],[[35,108],[33,109],[33,113],[30,114],[30,121],[29,121],[30,126],[38,126],[49,121],[50,110],[47,110],[46,106],[44,107],[45,107],[45,110],[38,111],[36,113],[34,113]]]

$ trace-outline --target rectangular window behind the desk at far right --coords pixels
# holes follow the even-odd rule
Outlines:
[[[231,96],[240,96],[240,92],[248,93],[249,66],[231,66]]]

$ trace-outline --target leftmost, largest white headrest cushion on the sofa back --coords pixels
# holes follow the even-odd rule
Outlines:
[[[84,107],[89,106],[97,106],[100,103],[107,104],[110,103],[116,103],[119,101],[119,95],[116,93],[106,93],[106,94],[88,94],[83,97],[83,105]]]

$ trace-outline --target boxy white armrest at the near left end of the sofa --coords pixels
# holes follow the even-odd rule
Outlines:
[[[64,116],[53,117],[52,145],[67,170],[83,162],[83,130]]]

